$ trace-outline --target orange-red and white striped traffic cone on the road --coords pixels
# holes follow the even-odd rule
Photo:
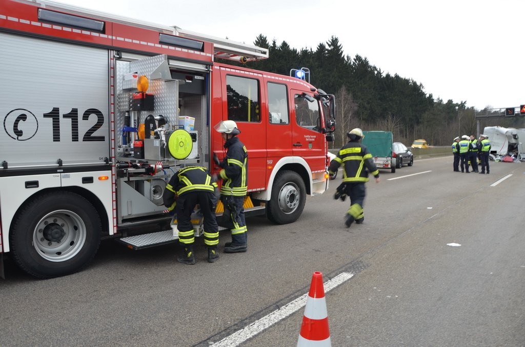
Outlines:
[[[314,272],[297,347],[331,347],[323,274]]]

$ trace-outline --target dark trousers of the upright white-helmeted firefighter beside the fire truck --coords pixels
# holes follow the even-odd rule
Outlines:
[[[247,244],[248,229],[244,219],[244,198],[220,196],[220,201],[224,205],[224,212],[219,220],[219,225],[232,231],[233,246]]]

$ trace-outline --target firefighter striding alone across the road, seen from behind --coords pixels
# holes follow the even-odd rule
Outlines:
[[[369,180],[369,172],[375,177],[376,183],[379,183],[380,179],[379,170],[372,160],[372,154],[366,146],[360,143],[364,137],[361,129],[352,129],[346,135],[350,140],[339,150],[337,157],[330,162],[328,171],[333,174],[337,172],[341,164],[344,164],[343,183],[337,188],[334,198],[341,198],[344,201],[347,195],[350,197],[350,208],[345,215],[345,224],[349,227],[354,221],[357,224],[364,221],[364,183]]]

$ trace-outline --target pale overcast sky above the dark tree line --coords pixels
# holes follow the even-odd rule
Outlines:
[[[249,44],[262,34],[315,50],[333,35],[345,55],[422,83],[435,100],[478,110],[525,104],[523,0],[60,2]]]

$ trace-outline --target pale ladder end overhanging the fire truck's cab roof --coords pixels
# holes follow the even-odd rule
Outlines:
[[[200,34],[195,31],[175,28],[175,35],[188,39],[211,42],[213,44],[215,58],[228,59],[237,62],[247,62],[268,58],[268,49],[255,45],[243,44],[229,39]]]

